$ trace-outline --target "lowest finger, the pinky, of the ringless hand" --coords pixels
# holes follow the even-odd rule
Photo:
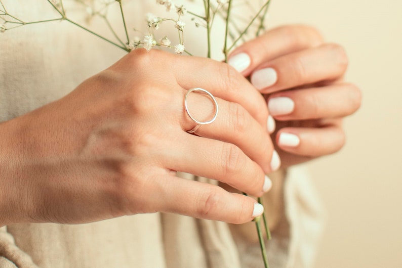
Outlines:
[[[283,151],[306,157],[319,157],[339,151],[345,144],[340,126],[321,128],[286,127],[276,134],[276,144]]]

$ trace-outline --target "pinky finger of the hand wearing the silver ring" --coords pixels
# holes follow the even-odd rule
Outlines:
[[[157,205],[159,211],[221,220],[231,224],[244,224],[264,211],[263,206],[253,198],[229,193],[219,186],[175,176],[169,176],[166,180],[169,189],[162,190],[164,194],[157,198],[161,201]]]

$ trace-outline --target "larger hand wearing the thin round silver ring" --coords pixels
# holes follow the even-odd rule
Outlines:
[[[217,119],[196,135],[186,132],[195,123],[184,110],[192,87],[219,104]],[[210,100],[191,96],[196,116],[208,118]],[[133,51],[66,97],[0,124],[0,226],[156,211],[250,221],[253,198],[176,171],[261,196],[273,155],[266,110],[261,94],[227,64]]]

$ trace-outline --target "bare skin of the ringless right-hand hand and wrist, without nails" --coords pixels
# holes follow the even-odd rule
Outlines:
[[[292,113],[273,115],[276,129],[272,140],[282,160],[282,172],[272,178],[273,188],[264,198],[270,228],[274,230],[284,218],[283,198],[285,169],[317,157],[339,151],[345,144],[342,121],[360,106],[359,88],[344,82],[348,65],[345,50],[327,43],[314,28],[305,25],[288,25],[272,29],[260,37],[237,48],[230,57],[246,53],[250,66],[242,72],[253,81],[254,72],[273,68],[277,81],[262,88],[267,103],[276,97],[288,97],[295,103]],[[230,58],[229,58],[230,59]],[[323,64],[323,62],[325,64]],[[296,147],[278,143],[281,133],[299,137]],[[245,239],[258,238],[252,223],[233,227]]]

